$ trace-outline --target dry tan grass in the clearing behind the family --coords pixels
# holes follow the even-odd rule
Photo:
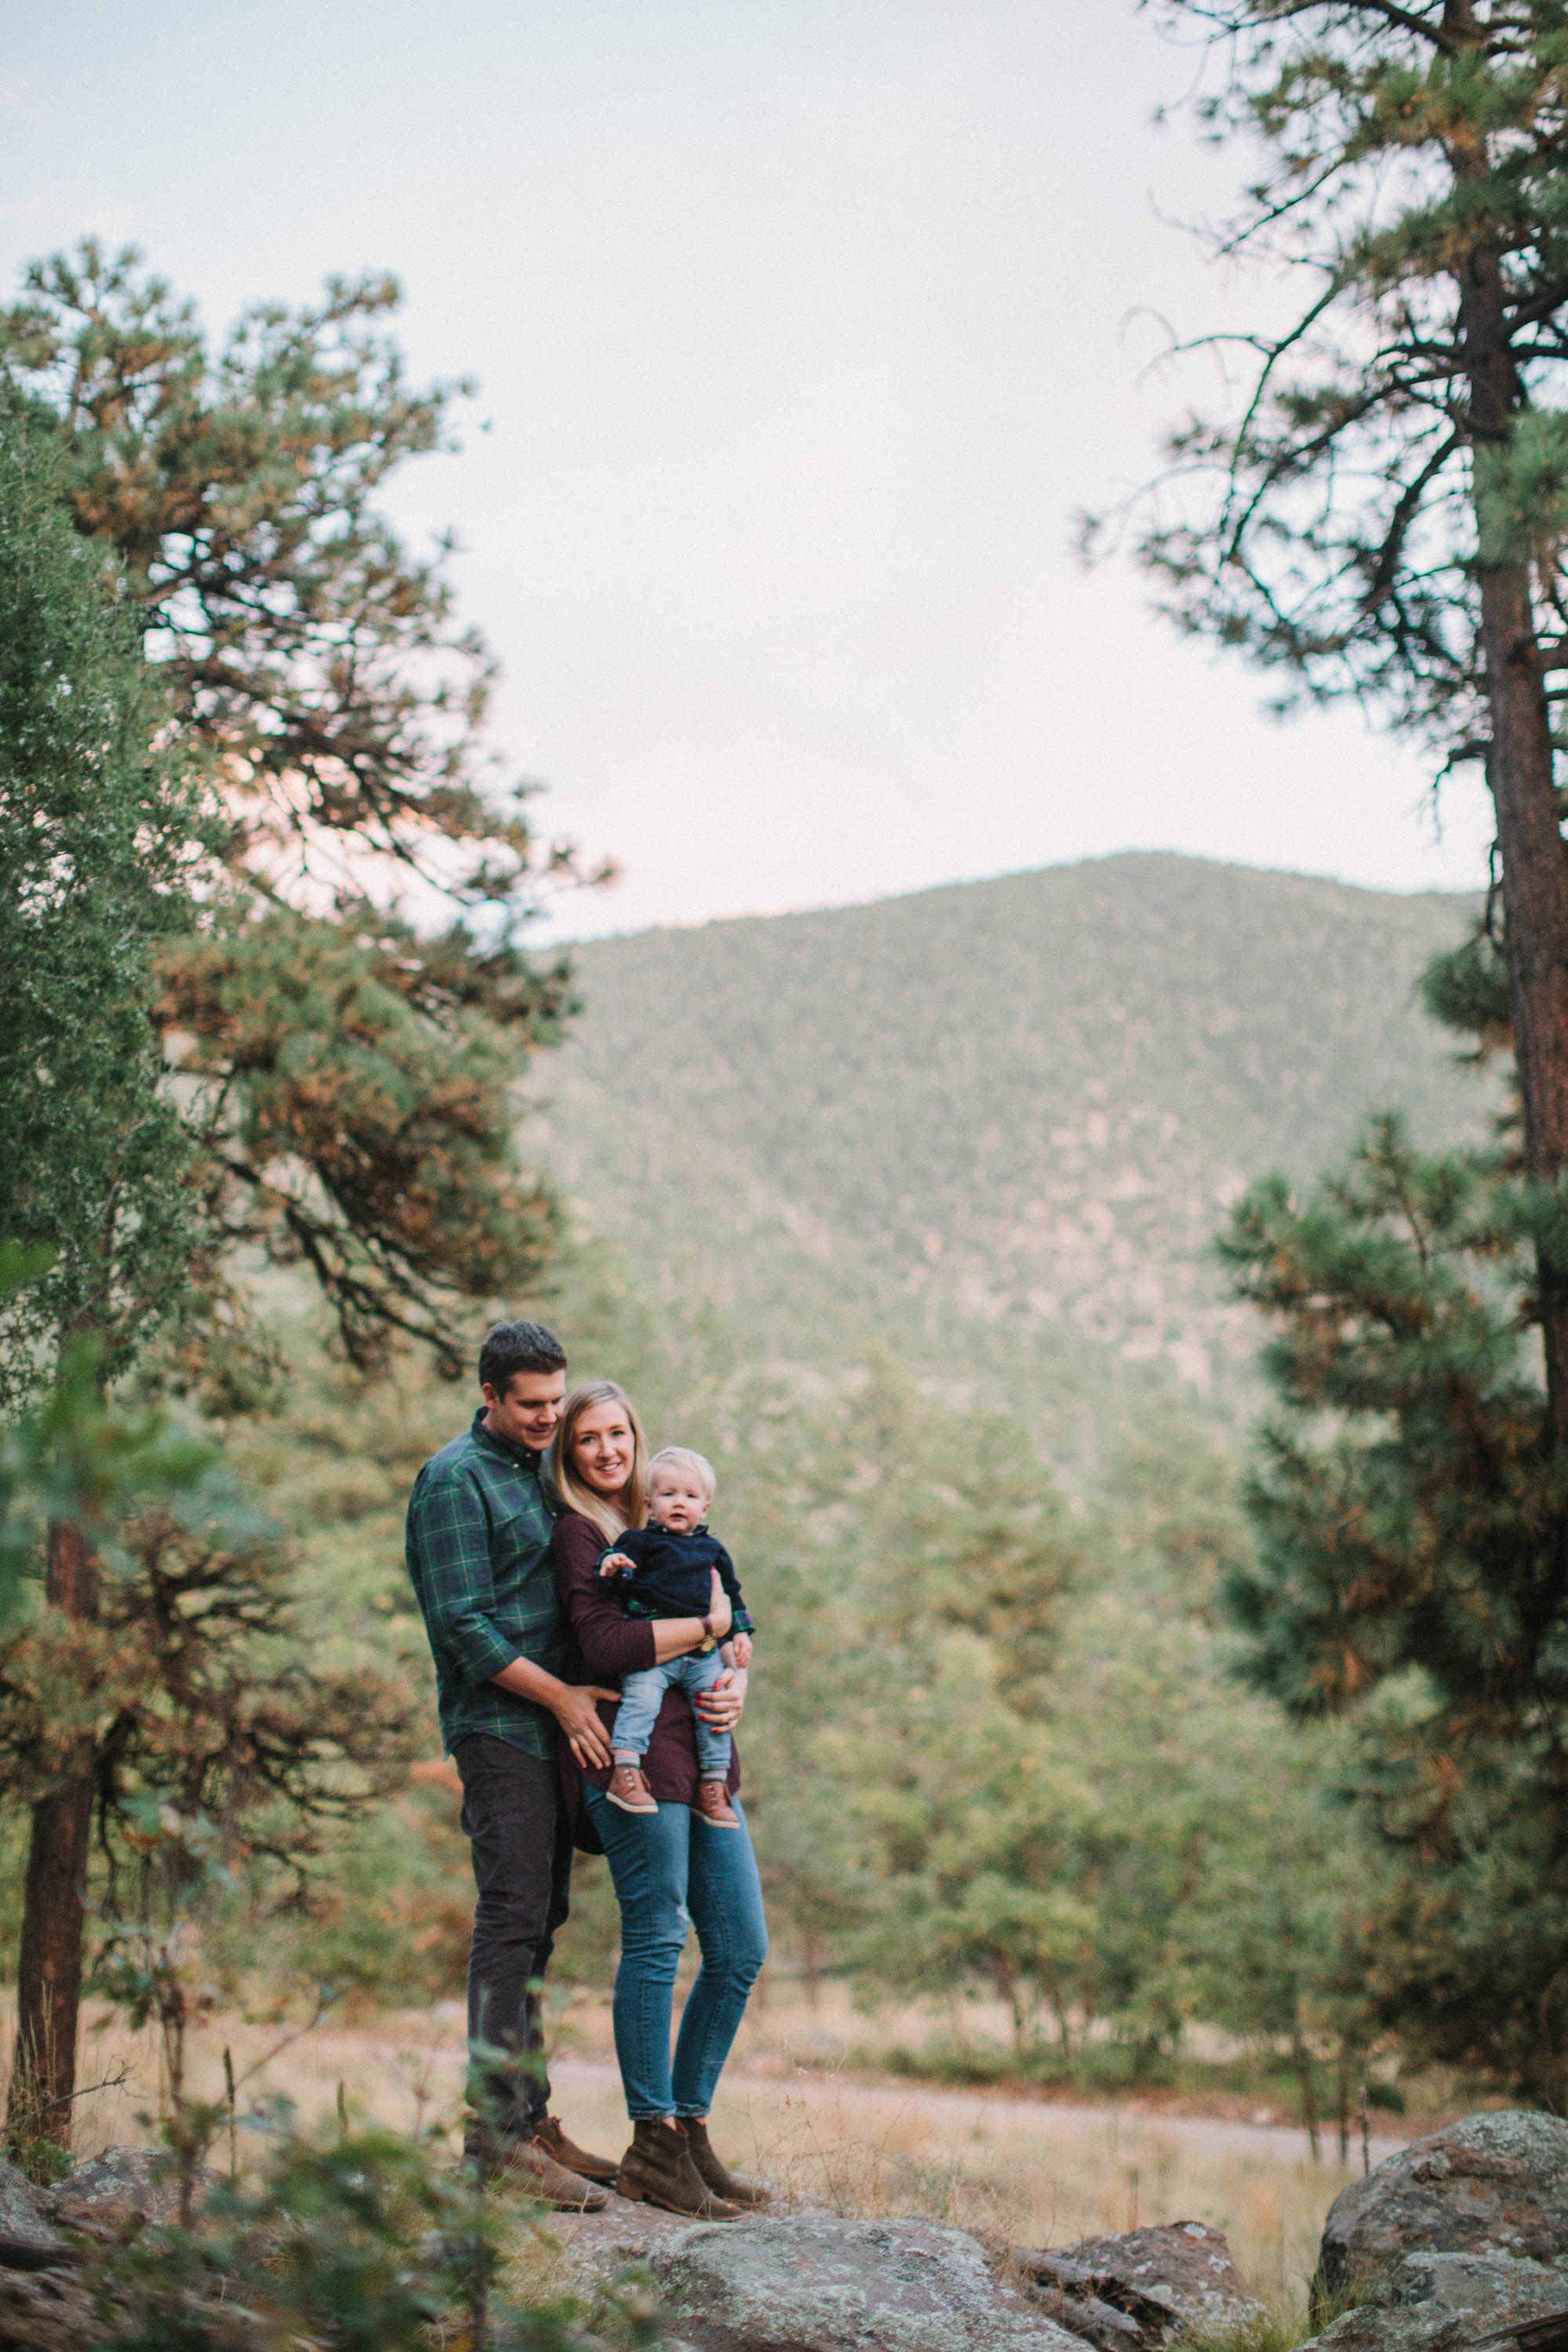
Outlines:
[[[146,2138],[158,2105],[150,2044],[113,2018],[94,2025],[80,2079],[125,2067],[127,2082],[82,2103],[82,2154]],[[604,2004],[576,2002],[567,2025],[576,2046],[555,2063],[555,2103],[578,2140],[616,2154],[628,2126]],[[919,2211],[1004,2244],[1060,2246],[1138,2223],[1206,2220],[1225,2230],[1272,2314],[1300,2324],[1324,2213],[1352,2173],[1309,2164],[1298,2131],[844,2079],[823,2067],[823,2037],[835,2030],[820,2011],[780,2004],[748,2023],[715,2103],[715,2138],[733,2164],[839,2213]],[[277,2037],[280,2027],[216,2018],[195,2037],[193,2091],[221,2096],[226,2046],[244,2074]],[[320,2025],[259,2065],[247,2089],[282,2093],[301,2122],[317,2122],[343,2084],[360,2112],[409,2129],[454,2117],[461,2079],[463,2013],[442,2004],[357,2027]],[[1373,2161],[1392,2145],[1373,2143]],[[517,2260],[529,2272],[543,2265],[545,2284],[555,2258],[529,2241]]]

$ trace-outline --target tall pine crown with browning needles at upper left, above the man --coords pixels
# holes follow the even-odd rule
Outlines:
[[[87,242],[0,315],[0,367],[59,419],[68,513],[120,557],[226,814],[235,887],[160,957],[205,1214],[190,1378],[237,1308],[235,1242],[308,1265],[353,1362],[402,1334],[447,1369],[465,1303],[515,1298],[555,1247],[512,1089],[571,1011],[567,964],[522,943],[571,861],[484,753],[494,663],[449,550],[411,555],[376,506],[449,445],[463,390],[407,383],[395,303],[386,278],[334,282],[212,350],[136,254]]]

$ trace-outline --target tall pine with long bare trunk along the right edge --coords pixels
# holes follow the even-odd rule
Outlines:
[[[1225,61],[1215,136],[1262,155],[1220,252],[1307,294],[1237,336],[1239,414],[1171,440],[1143,560],[1182,628],[1356,696],[1441,769],[1483,762],[1523,1162],[1568,1171],[1568,7],[1154,0]],[[1368,1178],[1371,1181],[1371,1178]],[[1549,1432],[1568,1444],[1568,1254],[1540,1223]]]

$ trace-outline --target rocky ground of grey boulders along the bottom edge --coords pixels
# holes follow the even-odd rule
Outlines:
[[[56,2190],[0,2164],[0,2352],[89,2340],[82,2256],[167,2201],[150,2150],[108,2150]],[[548,2227],[583,2284],[651,2274],[670,2352],[1178,2352],[1267,2321],[1199,2220],[1004,2246],[926,2216],[795,2201],[691,2225],[611,2197]],[[1335,2199],[1314,2296],[1312,2352],[1568,2352],[1568,2124],[1472,2114],[1387,2157]]]

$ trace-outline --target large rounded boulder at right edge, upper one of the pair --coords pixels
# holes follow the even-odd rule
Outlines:
[[[1340,2296],[1418,2249],[1568,2256],[1568,2124],[1519,2110],[1467,2114],[1385,2157],[1331,2204],[1316,2293]]]

